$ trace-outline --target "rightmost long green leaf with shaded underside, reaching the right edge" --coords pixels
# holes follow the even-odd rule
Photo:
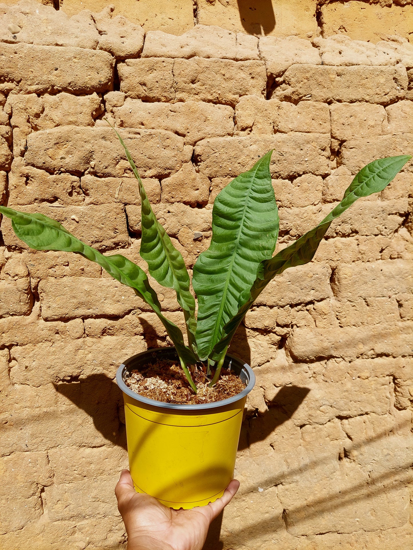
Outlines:
[[[410,158],[412,157],[409,155],[401,155],[398,157],[380,158],[367,164],[352,180],[350,187],[344,193],[343,200],[318,226],[308,231],[300,239],[296,240],[295,243],[278,252],[273,258],[260,263],[254,284],[251,289],[245,290],[242,293],[238,303],[238,312],[226,323],[222,330],[222,338],[215,345],[213,353],[211,353],[210,358],[212,360],[219,360],[222,351],[229,346],[244,315],[271,279],[289,267],[301,266],[310,262],[333,220],[338,218],[358,198],[383,191]]]

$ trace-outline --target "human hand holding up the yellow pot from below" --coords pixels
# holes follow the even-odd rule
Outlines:
[[[208,527],[230,502],[240,482],[232,480],[221,498],[191,510],[167,508],[137,493],[129,470],[122,470],[115,494],[128,533],[128,550],[201,550]]]

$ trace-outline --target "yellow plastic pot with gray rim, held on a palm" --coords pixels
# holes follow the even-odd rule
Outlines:
[[[147,399],[124,383],[127,370],[154,359],[177,359],[175,348],[134,355],[118,368],[122,389],[129,470],[135,489],[170,508],[193,508],[214,502],[232,480],[242,414],[255,376],[246,364],[227,355],[224,367],[246,383],[230,399],[205,405],[180,405]]]

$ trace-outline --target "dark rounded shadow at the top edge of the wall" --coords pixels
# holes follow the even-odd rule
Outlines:
[[[224,4],[224,1],[221,3]],[[237,4],[241,24],[248,34],[267,35],[274,29],[275,15],[271,0],[237,0]]]

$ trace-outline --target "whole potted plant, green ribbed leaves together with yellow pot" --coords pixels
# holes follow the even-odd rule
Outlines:
[[[182,256],[157,221],[132,157],[117,135],[138,180],[142,201],[140,255],[148,263],[151,276],[176,291],[187,344],[180,328],[163,315],[146,273],[135,263],[121,254],[102,255],[42,214],[6,206],[0,206],[0,212],[12,220],[17,237],[31,248],[75,252],[97,262],[117,281],[133,288],[164,324],[174,347],[135,355],[117,371],[117,383],[124,395],[129,467],[137,491],[147,492],[172,508],[192,508],[222,496],[232,479],[242,412],[255,380],[248,365],[226,354],[244,315],[277,274],[312,260],[336,217],[359,197],[382,191],[411,157],[382,158],[367,164],[334,210],[275,256],[279,218],[269,171],[272,151],[259,158],[215,199],[211,244],[193,269],[192,284],[198,298],[195,317],[191,281]],[[148,365],[172,365],[175,370],[171,367],[166,371],[177,376],[174,362],[186,377],[187,403],[182,399],[154,400],[133,391],[131,379],[142,378]],[[230,368],[242,383],[232,397],[214,401],[208,397],[221,383],[223,367]],[[182,389],[182,380],[180,384]]]

